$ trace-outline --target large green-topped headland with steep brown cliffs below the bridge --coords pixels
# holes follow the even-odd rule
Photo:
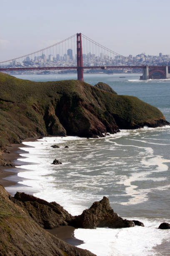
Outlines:
[[[117,95],[104,83],[32,82],[0,72],[0,148],[35,135],[96,138],[119,128],[166,124],[157,108]]]

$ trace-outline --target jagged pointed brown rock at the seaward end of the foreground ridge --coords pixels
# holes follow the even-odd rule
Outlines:
[[[135,224],[131,220],[123,220],[110,207],[107,197],[84,210],[81,215],[75,216],[70,225],[77,228],[129,228]]]

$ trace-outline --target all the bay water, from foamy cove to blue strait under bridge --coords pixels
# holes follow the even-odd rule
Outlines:
[[[140,81],[140,74],[123,76],[85,74],[84,80],[92,85],[105,82],[120,95],[137,96],[159,108],[170,121],[170,79]],[[77,79],[76,74],[16,77],[32,81]],[[97,139],[46,137],[23,144],[25,153],[16,166],[18,184],[7,191],[56,201],[72,215],[107,196],[122,218],[145,225],[76,229],[75,237],[84,241],[78,247],[97,256],[170,255],[170,230],[158,229],[160,223],[170,223],[170,126],[121,130]],[[51,148],[53,144],[60,148]],[[51,165],[55,158],[62,165]]]

